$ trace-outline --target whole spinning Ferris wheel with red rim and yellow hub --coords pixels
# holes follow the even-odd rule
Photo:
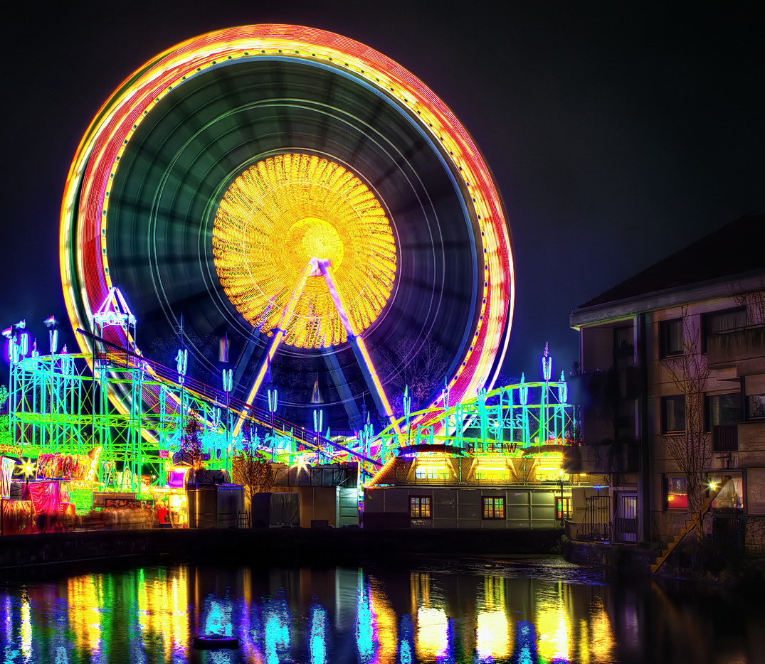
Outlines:
[[[336,430],[362,403],[385,415],[430,342],[451,403],[474,396],[513,312],[500,197],[454,115],[380,53],[288,25],[197,37],[125,80],[70,168],[61,269],[74,326],[119,286],[145,355],[182,321],[213,371],[227,335],[239,397],[264,398],[270,368],[285,416],[308,422],[319,385]]]

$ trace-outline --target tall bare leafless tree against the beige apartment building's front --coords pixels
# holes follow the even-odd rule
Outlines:
[[[680,394],[685,397],[685,433],[662,436],[664,447],[685,475],[688,510],[702,504],[706,473],[711,465],[711,436],[704,426],[705,390],[709,381],[707,359],[701,352],[698,323],[682,307],[682,355],[661,361]]]

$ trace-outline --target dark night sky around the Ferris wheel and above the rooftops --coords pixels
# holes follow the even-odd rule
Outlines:
[[[19,3],[4,31],[0,327],[26,318],[43,337],[44,318],[66,318],[60,197],[99,106],[161,50],[239,24],[352,37],[461,119],[513,234],[509,374],[535,376],[545,342],[568,370],[571,309],[738,215],[765,212],[759,2],[111,4]]]

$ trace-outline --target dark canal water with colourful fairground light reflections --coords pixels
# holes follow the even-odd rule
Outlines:
[[[557,556],[419,568],[168,565],[0,586],[0,662],[765,662],[765,611]],[[194,636],[237,636],[200,651]]]

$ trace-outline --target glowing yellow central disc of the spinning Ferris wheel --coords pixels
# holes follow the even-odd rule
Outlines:
[[[388,303],[398,261],[391,224],[369,186],[313,154],[278,154],[236,177],[216,209],[213,261],[239,313],[274,334],[313,258],[332,265],[356,334],[369,329]],[[324,280],[308,280],[292,312],[282,343],[347,341]]]

